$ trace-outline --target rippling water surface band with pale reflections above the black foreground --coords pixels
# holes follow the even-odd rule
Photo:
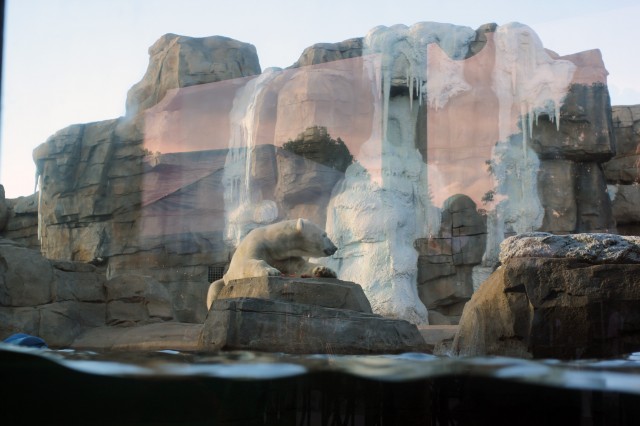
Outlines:
[[[237,351],[201,354],[172,349],[150,353],[96,353],[0,344],[0,352],[3,351],[46,358],[82,373],[142,379],[206,377],[271,380],[333,372],[381,382],[403,382],[442,376],[468,376],[640,395],[640,353],[614,360],[567,362],[506,357],[455,358],[423,353],[288,355]]]

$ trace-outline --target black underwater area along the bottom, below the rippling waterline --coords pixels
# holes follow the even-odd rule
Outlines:
[[[236,361],[242,356],[235,355]],[[234,365],[242,369],[246,364],[234,364],[230,358],[227,361],[217,364],[224,368],[215,374],[202,363],[180,364],[179,374],[169,374],[170,368],[164,369],[167,374],[151,374],[135,364],[118,364],[119,369],[114,369],[113,361],[76,359],[70,368],[63,359],[51,359],[34,351],[0,350],[0,422],[631,425],[640,419],[640,393],[633,389],[594,390],[587,382],[585,389],[530,384],[478,373],[486,367],[414,379],[406,374],[396,374],[395,379],[385,374],[369,378],[369,373],[359,372],[357,367],[351,373],[341,368],[318,368],[312,356],[310,367],[296,369],[296,364],[287,364],[291,366],[288,372],[286,368],[280,374],[265,374],[263,370],[256,375],[260,377],[247,378],[241,370],[233,372]],[[147,362],[153,366],[165,361]],[[320,364],[326,366],[327,359]],[[382,364],[376,368],[389,368]],[[269,367],[268,363],[260,365]],[[273,364],[274,370],[278,368]]]

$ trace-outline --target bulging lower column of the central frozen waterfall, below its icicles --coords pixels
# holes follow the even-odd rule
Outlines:
[[[391,99],[387,137],[380,151],[368,151],[382,159],[380,168],[354,163],[334,189],[327,233],[339,250],[328,265],[362,285],[375,313],[425,324],[413,243],[439,213],[429,211],[426,165],[413,145],[417,111],[406,98]]]

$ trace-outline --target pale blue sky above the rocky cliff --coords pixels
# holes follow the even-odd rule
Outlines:
[[[169,32],[252,43],[264,69],[376,25],[517,21],[560,54],[599,48],[613,103],[640,103],[637,0],[8,0],[5,19],[0,183],[9,198],[32,193],[31,154],[50,135],[124,114],[147,49]]]

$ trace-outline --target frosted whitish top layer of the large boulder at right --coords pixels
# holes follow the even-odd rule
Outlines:
[[[615,234],[554,235],[529,232],[500,244],[500,262],[519,257],[546,257],[597,263],[640,263],[640,237]]]

